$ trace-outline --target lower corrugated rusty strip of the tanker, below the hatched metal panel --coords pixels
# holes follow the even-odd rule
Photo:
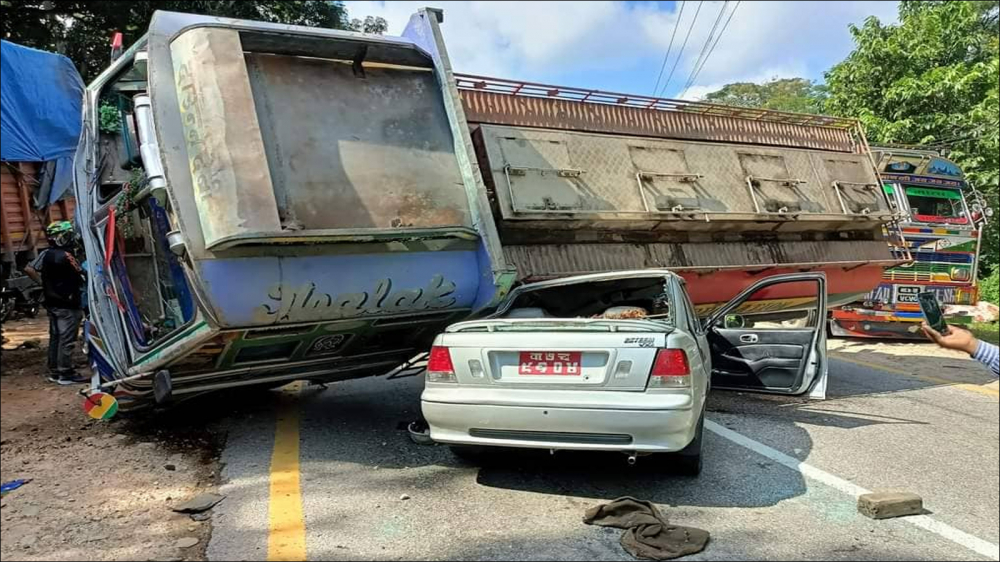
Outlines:
[[[504,253],[517,267],[519,279],[657,267],[711,270],[898,262],[882,240],[506,245]]]

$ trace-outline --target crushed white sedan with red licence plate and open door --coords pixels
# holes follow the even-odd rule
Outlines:
[[[778,275],[700,320],[666,270],[521,286],[437,336],[421,396],[431,439],[469,446],[673,453],[701,470],[710,387],[822,397],[826,279]]]

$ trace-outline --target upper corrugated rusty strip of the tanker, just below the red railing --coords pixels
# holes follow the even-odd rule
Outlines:
[[[491,123],[667,139],[814,148],[856,152],[851,132],[833,127],[741,119],[723,115],[665,111],[461,90],[470,123]]]

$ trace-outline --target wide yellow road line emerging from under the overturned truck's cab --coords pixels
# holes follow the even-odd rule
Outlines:
[[[288,387],[298,394],[301,383]],[[299,482],[299,410],[286,403],[278,412],[271,454],[271,490],[268,501],[268,560],[306,559],[306,522]]]

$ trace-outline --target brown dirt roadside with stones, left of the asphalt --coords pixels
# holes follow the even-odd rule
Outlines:
[[[170,507],[216,491],[221,438],[184,412],[91,420],[80,387],[43,378],[47,326],[4,325],[0,475],[31,482],[0,500],[0,558],[203,560],[211,521]]]

